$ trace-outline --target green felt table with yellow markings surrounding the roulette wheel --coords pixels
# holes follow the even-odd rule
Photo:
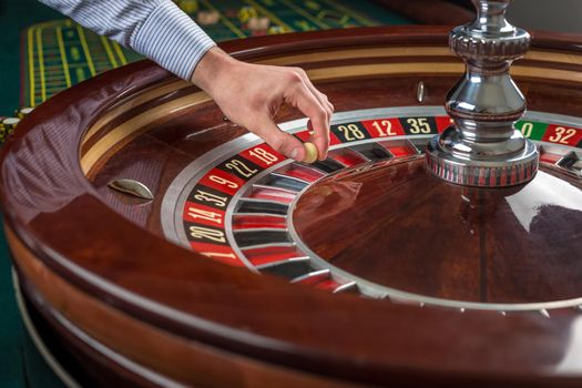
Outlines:
[[[269,18],[270,28],[261,33],[409,22],[366,0],[176,2],[193,18],[201,10],[217,10],[221,21],[206,27],[217,41],[253,35],[245,22],[249,12]],[[0,25],[0,116],[11,115],[20,106],[38,105],[64,88],[141,59],[34,0],[2,0]],[[61,387],[23,328],[10,268],[0,231],[0,387]]]

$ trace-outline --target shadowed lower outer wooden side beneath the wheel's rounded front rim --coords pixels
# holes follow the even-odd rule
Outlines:
[[[79,292],[63,279],[54,276],[50,268],[16,239],[8,228],[7,237],[12,253],[19,259],[22,284],[28,295],[37,295],[40,313],[59,330],[59,336],[70,346],[75,358],[85,363],[92,360],[90,386],[170,386],[177,381],[190,386],[208,387],[219,382],[222,386],[279,386],[289,387],[355,387],[339,380],[326,379],[316,375],[300,374],[277,365],[257,363],[254,359],[228,354],[193,340],[184,341],[167,331],[157,330],[139,319],[112,308],[102,300]],[[41,293],[42,297],[38,296]],[[61,295],[67,295],[63,300]],[[67,310],[67,318],[58,312]],[[101,317],[108,317],[102,320]],[[69,327],[63,327],[63,321]],[[73,324],[74,321],[74,324]],[[92,325],[91,325],[92,324]],[[115,364],[106,355],[79,336],[78,327],[91,327],[83,334],[109,349],[115,348],[118,356],[131,357],[149,374],[144,376],[132,363]],[[127,335],[141,340],[126,340]],[[172,363],[161,364],[161,359]],[[162,368],[160,368],[162,367]],[[111,370],[114,368],[113,370]],[[171,376],[172,378],[167,378]],[[154,381],[157,384],[154,384]],[[95,384],[96,382],[96,384]]]

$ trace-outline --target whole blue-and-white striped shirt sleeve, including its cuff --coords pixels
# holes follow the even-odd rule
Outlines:
[[[40,0],[190,80],[212,39],[171,0]]]

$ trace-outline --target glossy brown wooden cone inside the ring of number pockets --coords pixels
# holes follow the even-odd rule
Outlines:
[[[483,191],[432,176],[422,156],[394,161],[324,178],[293,218],[320,257],[399,290],[493,304],[581,295],[582,182],[555,167]]]

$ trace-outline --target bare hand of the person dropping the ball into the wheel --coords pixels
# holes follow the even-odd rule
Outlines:
[[[297,108],[309,119],[319,160],[327,156],[334,105],[302,69],[244,63],[213,48],[196,67],[192,82],[214,99],[228,120],[282,154],[305,161],[308,155],[302,142],[280,131],[274,121],[284,103]]]

